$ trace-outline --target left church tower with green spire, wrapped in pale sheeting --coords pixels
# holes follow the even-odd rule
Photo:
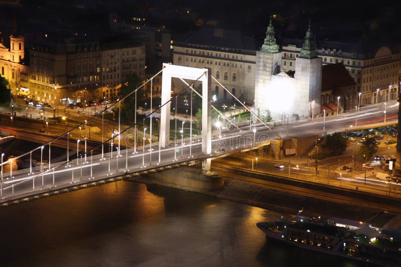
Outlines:
[[[259,117],[270,115],[266,107],[266,97],[269,97],[268,87],[271,77],[280,72],[281,52],[276,43],[272,17],[267,27],[265,42],[261,49],[256,51],[256,73],[255,73],[255,113]]]

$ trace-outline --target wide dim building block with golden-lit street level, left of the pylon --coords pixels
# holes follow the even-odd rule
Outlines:
[[[131,41],[44,41],[30,50],[29,88],[35,100],[54,105],[113,99],[135,73],[144,79],[144,45]]]

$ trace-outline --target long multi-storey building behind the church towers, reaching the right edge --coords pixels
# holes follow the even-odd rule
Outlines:
[[[300,39],[283,39],[281,63],[285,71],[295,69],[301,42]],[[382,46],[373,53],[367,53],[360,42],[323,40],[316,44],[323,64],[342,63],[348,70],[355,80],[357,91],[361,92],[360,105],[397,99],[401,72],[401,53],[397,49]]]

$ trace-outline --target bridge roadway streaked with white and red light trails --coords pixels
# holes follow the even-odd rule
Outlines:
[[[397,102],[388,104],[387,123],[397,123],[397,117],[394,115],[397,111]],[[356,112],[349,112],[341,114],[339,117],[335,115],[327,117],[325,131],[344,131],[346,127],[350,129],[349,125],[355,124],[355,115]],[[358,126],[361,125],[361,127],[366,127],[366,125],[369,127],[381,126],[384,119],[383,110],[375,105],[361,107],[357,119]],[[201,138],[193,138],[191,146],[189,145],[189,138],[179,139],[176,141],[175,149],[173,142],[170,143],[170,147],[162,149],[159,149],[157,143],[152,143],[151,151],[149,145],[145,145],[145,150],[137,149],[136,153],[134,153],[134,148],[121,150],[119,157],[117,157],[117,151],[105,153],[103,158],[101,158],[101,155],[87,155],[86,162],[83,162],[84,156],[77,158],[76,153],[72,153],[70,158],[75,157],[75,159],[70,160],[68,164],[66,162],[53,163],[50,169],[44,165],[44,172],[41,172],[40,166],[37,166],[32,168],[32,173],[30,173],[29,168],[13,171],[13,177],[10,177],[11,173],[4,173],[3,181],[1,182],[0,202],[90,183],[95,180],[118,177],[126,173],[141,172],[153,168],[162,170],[162,167],[178,162],[205,157],[221,157],[232,152],[265,145],[270,142],[270,139],[286,138],[287,135],[303,137],[323,134],[323,120],[322,118],[314,118],[314,121],[271,126],[275,133],[263,124],[256,125],[255,128],[256,131],[254,131],[253,125],[245,126],[240,131],[226,131],[223,132],[221,137],[214,136],[210,155],[202,154]],[[70,147],[73,148],[73,145]]]

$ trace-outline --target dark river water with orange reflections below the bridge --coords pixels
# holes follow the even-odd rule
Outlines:
[[[0,266],[362,266],[267,240],[281,215],[119,181],[0,208]]]

